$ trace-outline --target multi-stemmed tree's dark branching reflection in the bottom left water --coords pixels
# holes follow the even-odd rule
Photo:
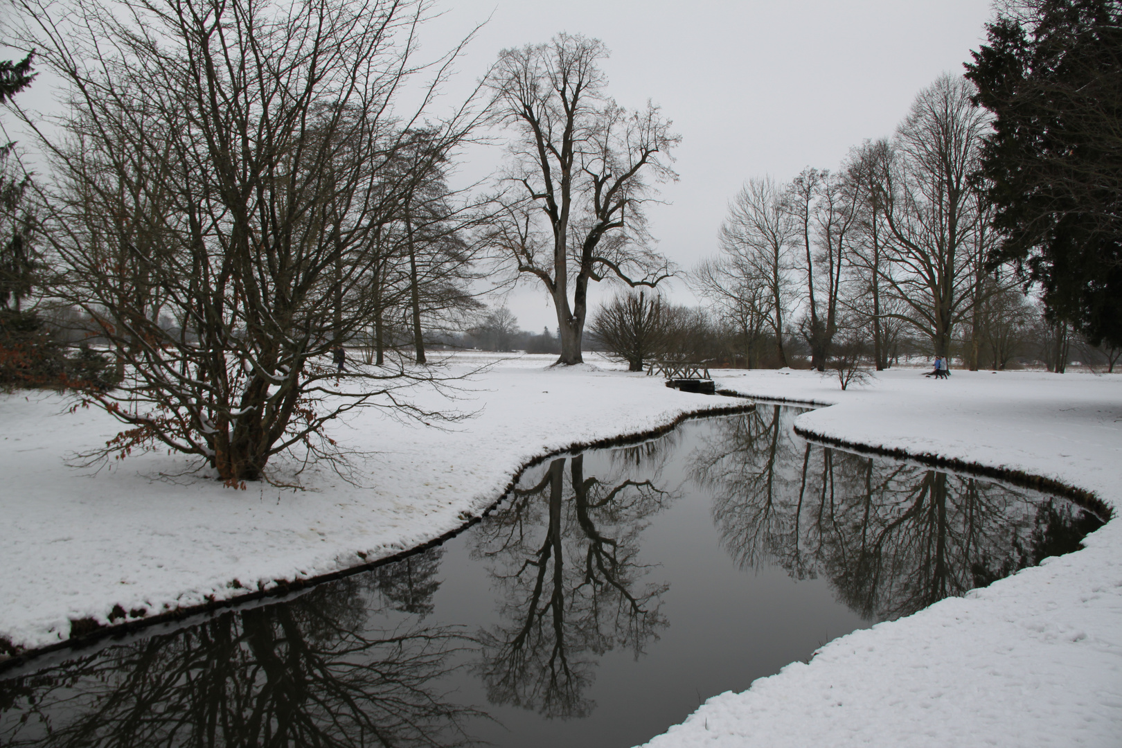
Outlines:
[[[431,685],[461,631],[367,630],[379,593],[423,607],[434,572],[414,560],[0,682],[0,745],[469,745],[460,726],[479,712]]]

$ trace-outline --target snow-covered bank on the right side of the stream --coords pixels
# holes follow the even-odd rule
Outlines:
[[[842,393],[808,372],[745,372],[755,397],[837,404],[797,427],[1022,471],[1122,507],[1122,377],[883,372]],[[1118,514],[1115,514],[1118,517]],[[1122,520],[1086,548],[824,646],[744,693],[709,699],[647,744],[1116,746],[1122,740]]]

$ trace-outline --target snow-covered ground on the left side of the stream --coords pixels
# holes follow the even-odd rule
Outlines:
[[[442,376],[495,358],[459,354]],[[420,406],[475,414],[442,428],[352,412],[332,431],[369,453],[355,460],[359,484],[322,470],[302,475],[301,491],[224,489],[182,474],[190,463],[166,453],[96,474],[70,468],[121,426],[92,408],[67,413],[56,395],[0,395],[0,639],[39,648],[68,638],[72,621],[119,624],[121,613],[159,615],[394,555],[462,526],[534,458],[744,404],[603,360],[549,369],[555,359],[502,360],[453,382],[454,400],[419,391]]]

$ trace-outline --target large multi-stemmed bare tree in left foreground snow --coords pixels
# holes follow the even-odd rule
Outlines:
[[[105,453],[200,455],[237,486],[288,449],[338,455],[323,430],[351,408],[408,412],[426,373],[318,360],[367,324],[378,232],[438,160],[398,167],[393,114],[423,3],[20,7],[18,38],[71,91],[65,138],[40,132],[50,248],[128,373],[91,395],[127,426]],[[434,151],[470,124],[435,126]]]

